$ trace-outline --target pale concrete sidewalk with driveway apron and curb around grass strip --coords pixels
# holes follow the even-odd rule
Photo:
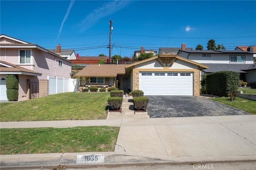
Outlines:
[[[104,154],[98,164],[256,161],[256,115],[110,119],[96,121],[1,122],[1,128],[120,127],[114,152],[1,155],[10,167],[86,166],[77,155]]]

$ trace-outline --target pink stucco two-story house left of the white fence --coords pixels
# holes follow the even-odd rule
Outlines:
[[[40,47],[0,35],[0,100],[7,100],[6,75],[18,75],[18,101],[49,94],[49,77],[71,78],[71,61]]]

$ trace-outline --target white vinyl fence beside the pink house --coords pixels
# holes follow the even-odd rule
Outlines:
[[[49,95],[78,91],[76,79],[63,77],[47,77],[49,80]]]

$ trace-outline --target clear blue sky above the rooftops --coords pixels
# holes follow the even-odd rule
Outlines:
[[[214,39],[226,49],[256,45],[256,1],[0,1],[0,34],[46,49],[75,49],[79,56],[131,57],[159,47],[195,49]]]

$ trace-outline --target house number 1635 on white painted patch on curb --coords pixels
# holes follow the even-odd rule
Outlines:
[[[76,156],[76,163],[103,163],[104,161],[104,154]]]

